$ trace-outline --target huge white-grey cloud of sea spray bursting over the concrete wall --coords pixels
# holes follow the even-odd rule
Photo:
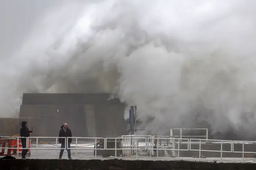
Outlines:
[[[254,133],[254,0],[13,4],[3,5],[0,117],[18,116],[22,93],[108,92],[137,105],[151,133]]]

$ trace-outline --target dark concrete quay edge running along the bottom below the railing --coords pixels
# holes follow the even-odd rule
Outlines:
[[[1,170],[254,170],[255,163],[153,160],[0,159]]]

